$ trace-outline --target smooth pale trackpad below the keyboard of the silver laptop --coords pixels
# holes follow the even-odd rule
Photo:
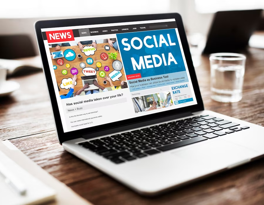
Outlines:
[[[196,146],[186,147],[184,150],[172,152],[177,158],[188,163],[199,165],[199,168],[214,169],[226,168],[243,160],[250,159],[258,153],[237,144],[218,138],[207,140],[206,143],[197,143]]]

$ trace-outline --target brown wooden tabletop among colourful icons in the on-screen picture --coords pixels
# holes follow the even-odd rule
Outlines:
[[[60,50],[62,52],[64,52],[66,49],[72,49],[75,52],[75,54],[76,54],[76,58],[73,61],[68,61],[64,57],[62,57],[61,59],[63,59],[63,61],[64,61],[64,64],[62,66],[60,66],[59,64],[57,64],[57,59],[52,59],[53,66],[57,66],[57,69],[55,69],[54,72],[55,72],[55,76],[56,76],[56,80],[57,80],[58,86],[60,87],[60,84],[62,83],[61,81],[62,81],[63,78],[72,78],[72,74],[71,74],[70,70],[72,68],[77,68],[78,69],[78,74],[77,74],[77,80],[76,80],[77,84],[74,87],[74,93],[75,93],[77,90],[79,90],[79,89],[81,89],[83,87],[81,76],[84,76],[84,74],[82,73],[82,68],[80,67],[80,63],[83,62],[83,63],[86,64],[86,67],[91,67],[91,68],[94,68],[95,69],[96,67],[98,67],[98,66],[96,66],[96,63],[97,62],[101,62],[102,66],[99,68],[99,71],[97,71],[97,74],[96,74],[97,75],[98,84],[100,86],[105,87],[105,88],[110,87],[110,83],[108,81],[107,81],[106,84],[103,83],[104,78],[101,78],[99,76],[99,72],[100,71],[104,71],[106,73],[106,75],[109,75],[109,73],[111,73],[112,71],[114,71],[113,66],[112,66],[112,63],[114,62],[114,60],[112,60],[112,59],[110,59],[108,57],[108,59],[104,61],[104,60],[102,60],[100,58],[100,54],[101,53],[106,53],[108,55],[108,53],[117,52],[116,60],[119,60],[120,62],[121,62],[121,57],[120,57],[120,53],[118,51],[116,51],[113,47],[110,47],[109,46],[110,47],[110,50],[109,51],[106,51],[104,49],[104,46],[105,45],[109,46],[108,43],[98,43],[98,44],[96,44],[97,49],[94,52],[94,55],[89,55],[89,56],[86,56],[80,50],[79,46],[65,46],[65,47],[61,47]],[[50,48],[50,52],[55,52],[54,48]],[[78,58],[77,57],[78,54],[81,54],[82,57],[81,58]],[[92,65],[87,64],[87,62],[86,62],[86,59],[87,58],[92,58],[94,60],[94,62],[93,62]],[[70,64],[70,68],[67,68],[66,67],[66,64],[67,63]],[[104,66],[108,66],[109,67],[109,71],[105,71],[104,70]],[[63,75],[62,74],[62,70],[63,69],[66,69],[68,71],[68,73],[66,75]],[[120,72],[122,73],[122,76],[119,78],[120,81],[114,81],[114,82],[112,82],[114,86],[120,86],[121,81],[126,81],[126,77],[124,75],[124,69],[122,69]],[[59,91],[60,95],[65,95],[68,92],[69,92],[69,90],[62,89],[62,88],[60,88],[60,91]]]

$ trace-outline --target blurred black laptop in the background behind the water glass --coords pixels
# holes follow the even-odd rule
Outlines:
[[[216,12],[203,53],[239,52],[245,49],[260,23],[262,11],[257,9]]]

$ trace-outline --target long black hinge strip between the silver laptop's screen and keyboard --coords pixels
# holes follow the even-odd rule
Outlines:
[[[121,127],[115,127],[115,128],[112,128],[112,129],[106,129],[106,130],[101,130],[101,131],[97,131],[97,132],[92,132],[92,133],[89,133],[89,134],[84,134],[84,135],[82,135],[82,137],[84,139],[90,139],[90,138],[94,138],[94,137],[99,137],[99,136],[104,136],[104,135],[108,135],[108,134],[113,134],[113,133],[116,133],[116,132],[122,132],[122,131],[126,131],[126,130],[137,129],[138,127],[145,127],[145,126],[148,126],[148,125],[151,125],[151,124],[158,124],[158,123],[162,123],[162,122],[166,122],[166,121],[170,121],[170,120],[174,120],[174,119],[179,119],[179,118],[187,117],[187,116],[191,116],[191,115],[192,115],[192,112],[179,113],[177,115],[170,115],[170,116],[166,116],[166,117],[150,119],[148,121],[128,124],[128,125],[124,125],[124,126],[121,126]],[[135,121],[136,121],[136,118],[135,118]]]

